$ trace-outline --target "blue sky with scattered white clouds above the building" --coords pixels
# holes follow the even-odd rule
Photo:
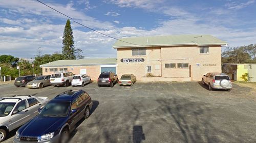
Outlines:
[[[210,34],[230,47],[256,43],[256,0],[40,0],[115,38]],[[0,55],[61,53],[67,17],[36,0],[0,1]],[[115,58],[115,39],[71,21],[85,58]],[[225,47],[222,48],[225,50]]]

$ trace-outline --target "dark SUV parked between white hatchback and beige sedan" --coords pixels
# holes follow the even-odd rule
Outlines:
[[[113,72],[102,72],[98,78],[98,87],[101,86],[110,86],[114,87],[114,83],[118,82],[118,77]]]

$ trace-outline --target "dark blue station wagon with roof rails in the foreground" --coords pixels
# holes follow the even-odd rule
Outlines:
[[[13,142],[66,143],[76,123],[90,116],[92,105],[91,97],[83,90],[63,92],[38,109],[39,114],[18,129]]]

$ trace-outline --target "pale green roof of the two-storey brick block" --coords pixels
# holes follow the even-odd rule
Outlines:
[[[116,41],[113,48],[226,44],[227,42],[211,35],[170,35],[121,38]]]

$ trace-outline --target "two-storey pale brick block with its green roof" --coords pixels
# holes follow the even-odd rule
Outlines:
[[[141,80],[151,73],[157,80],[190,81],[221,72],[221,46],[226,44],[210,35],[177,35],[122,38],[113,48],[118,75],[133,73]]]

